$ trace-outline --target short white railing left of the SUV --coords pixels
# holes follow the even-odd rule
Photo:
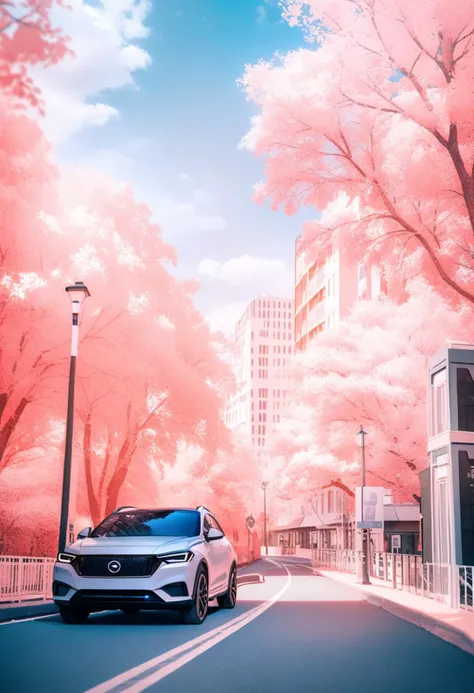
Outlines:
[[[52,599],[54,561],[0,556],[0,603]]]

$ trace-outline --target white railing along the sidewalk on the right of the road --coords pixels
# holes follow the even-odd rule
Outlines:
[[[362,552],[314,549],[312,562],[314,567],[359,574]],[[472,566],[423,563],[421,556],[374,552],[369,569],[372,577],[395,590],[434,599],[455,609],[474,611]]]

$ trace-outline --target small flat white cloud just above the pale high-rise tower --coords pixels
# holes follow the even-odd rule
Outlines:
[[[253,293],[277,293],[291,295],[293,272],[282,260],[242,255],[225,262],[211,258],[202,260],[198,273],[228,282],[234,286],[249,288]]]

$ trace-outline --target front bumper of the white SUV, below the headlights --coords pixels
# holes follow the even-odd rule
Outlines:
[[[85,606],[91,611],[138,606],[140,609],[186,609],[192,605],[198,561],[161,565],[150,577],[83,577],[68,564],[56,563],[55,604]]]

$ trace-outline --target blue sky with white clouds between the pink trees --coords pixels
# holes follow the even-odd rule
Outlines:
[[[290,295],[302,218],[251,200],[263,162],[238,150],[255,111],[236,80],[246,63],[302,46],[301,32],[275,0],[73,5],[74,22],[61,22],[76,65],[41,76],[59,158],[134,184],[178,250],[179,276],[200,281],[197,304],[214,327],[228,330],[258,293]]]

